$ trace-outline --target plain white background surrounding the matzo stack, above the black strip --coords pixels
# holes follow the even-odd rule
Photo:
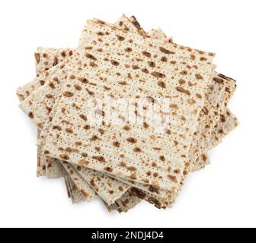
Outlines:
[[[254,0],[0,1],[0,226],[256,226],[255,11]],[[72,205],[62,180],[36,177],[36,128],[15,96],[34,77],[37,46],[75,47],[87,19],[114,22],[123,13],[146,30],[162,27],[175,43],[216,52],[217,71],[238,84],[229,107],[241,125],[169,210],[142,203],[119,215],[100,200]]]

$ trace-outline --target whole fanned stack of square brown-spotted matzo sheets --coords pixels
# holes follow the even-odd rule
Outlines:
[[[37,77],[17,92],[38,128],[37,176],[65,178],[73,203],[170,207],[238,125],[235,80],[214,56],[124,15],[87,21],[77,49],[39,48]]]

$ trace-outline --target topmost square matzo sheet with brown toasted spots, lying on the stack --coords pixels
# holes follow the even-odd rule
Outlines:
[[[56,75],[64,84],[45,153],[176,190],[204,104],[213,54],[142,38],[94,21],[88,21],[84,33],[90,44],[78,49],[69,65]],[[86,102],[103,100],[105,93],[114,100],[147,98],[146,109],[168,98],[168,114],[161,107],[156,109],[163,119],[169,117],[168,128],[155,134],[154,127],[145,123],[91,125],[89,109],[94,109],[99,120],[104,111],[97,103],[91,108]],[[123,115],[121,110],[116,112]],[[139,116],[136,109],[135,114]]]

